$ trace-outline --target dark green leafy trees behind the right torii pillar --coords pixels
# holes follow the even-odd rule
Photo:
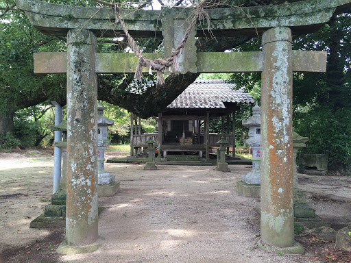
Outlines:
[[[327,153],[332,170],[351,164],[351,12],[335,15],[318,32],[295,36],[293,49],[328,51],[326,73],[293,73],[293,125],[310,139],[304,152]],[[258,51],[257,40],[239,47]],[[232,82],[259,95],[261,74],[233,74]]]

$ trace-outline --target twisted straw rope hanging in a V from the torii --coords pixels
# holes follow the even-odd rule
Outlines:
[[[123,29],[123,32],[125,33],[125,36],[127,36],[128,39],[128,44],[132,51],[134,51],[136,57],[138,57],[138,66],[136,67],[136,72],[134,75],[135,79],[141,79],[143,72],[142,68],[143,66],[149,68],[149,74],[152,74],[152,69],[156,70],[157,72],[157,83],[160,85],[165,84],[165,79],[163,78],[162,71],[165,69],[169,68],[169,71],[174,72],[175,74],[178,74],[180,72],[180,66],[178,62],[178,55],[182,53],[182,49],[185,46],[186,40],[188,40],[189,35],[191,33],[191,30],[193,27],[196,25],[197,19],[199,20],[204,20],[206,18],[206,21],[208,23],[208,31],[210,31],[210,16],[208,16],[208,13],[204,11],[204,5],[206,3],[205,1],[202,1],[197,5],[197,8],[195,8],[195,16],[193,17],[189,27],[186,29],[186,32],[180,41],[178,47],[176,49],[173,49],[171,52],[171,56],[167,58],[166,60],[162,58],[157,58],[156,60],[149,60],[147,58],[144,58],[143,52],[138,48],[138,45],[136,45],[136,42],[134,41],[134,38],[130,36],[127,27],[125,27],[125,23],[121,16],[119,15],[120,8],[118,6],[118,3],[107,3],[105,1],[101,0],[95,0],[97,3],[101,3],[104,5],[109,5],[113,10],[114,10],[114,17],[115,17],[115,23],[120,23],[121,27]],[[171,70],[171,67],[173,66],[173,71]]]

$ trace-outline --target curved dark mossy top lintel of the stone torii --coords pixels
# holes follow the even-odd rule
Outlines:
[[[282,5],[267,5],[257,8],[225,8],[206,10],[210,16],[210,29],[213,34],[231,35],[247,34],[255,36],[256,32],[262,33],[269,27],[291,27],[293,34],[314,32],[323,23],[329,21],[337,9],[350,5],[350,0],[331,1],[299,1]],[[104,34],[106,37],[115,37],[123,34],[119,24],[114,21],[114,14],[108,8],[83,8],[72,5],[55,5],[35,0],[17,0],[17,7],[25,10],[32,25],[45,34],[66,36],[71,28],[85,28],[95,32],[97,36]],[[184,8],[172,8],[178,14]],[[189,12],[193,12],[193,9]],[[163,10],[162,10],[163,12]],[[132,36],[152,37],[160,36],[160,11],[153,10],[121,10],[121,16]],[[138,23],[136,23],[138,21]],[[207,27],[197,25],[197,34],[203,35]],[[308,25],[307,27],[301,27]],[[52,27],[56,30],[53,31]],[[163,27],[163,25],[162,25]]]

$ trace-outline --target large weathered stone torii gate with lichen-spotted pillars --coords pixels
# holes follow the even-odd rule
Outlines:
[[[263,51],[197,53],[195,36],[203,36],[203,27],[197,25],[180,56],[182,73],[262,72],[261,237],[265,249],[303,252],[293,238],[292,77],[293,71],[326,71],[326,52],[292,51],[291,35],[315,31],[350,4],[351,0],[310,0],[258,8],[208,9],[215,36],[254,36],[258,32],[262,34]],[[133,53],[96,52],[97,37],[124,34],[111,22],[112,10],[36,0],[17,0],[17,7],[40,32],[67,36],[67,53],[34,54],[34,70],[67,74],[66,245],[85,246],[85,251],[91,251],[99,247],[96,74],[134,73],[138,60]],[[162,34],[168,57],[180,42],[192,11],[122,10],[121,16],[132,36]],[[144,55],[154,59],[159,54]]]

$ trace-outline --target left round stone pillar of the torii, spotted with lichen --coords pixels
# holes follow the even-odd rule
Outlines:
[[[67,34],[67,197],[66,246],[97,249],[97,75],[96,37],[87,29]]]

